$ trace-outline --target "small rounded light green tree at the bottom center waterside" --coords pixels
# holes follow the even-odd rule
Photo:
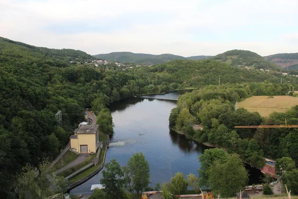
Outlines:
[[[185,194],[188,183],[181,172],[175,173],[175,176],[171,178],[171,182],[168,184],[169,191],[173,195]]]

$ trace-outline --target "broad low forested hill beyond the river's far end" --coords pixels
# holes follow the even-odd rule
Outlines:
[[[214,60],[174,60],[154,67],[137,67],[132,70],[135,75],[141,75],[144,79],[152,79],[153,84],[149,85],[154,88],[155,77],[158,76],[157,85],[165,85],[172,82],[169,89],[179,87],[203,87],[206,85],[218,85],[219,79],[221,84],[249,83],[268,81],[279,83],[280,78],[264,73],[260,70],[239,69],[229,64],[221,63]],[[275,74],[276,76],[281,76]],[[288,77],[290,82],[297,83],[297,78]],[[150,80],[149,80],[150,82]],[[156,93],[159,90],[148,90],[148,93]],[[165,92],[161,90],[161,92]]]

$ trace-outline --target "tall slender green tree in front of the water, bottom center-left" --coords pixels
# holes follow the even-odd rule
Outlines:
[[[150,169],[149,162],[145,159],[143,153],[135,153],[124,167],[127,180],[127,189],[132,194],[139,194],[149,186]]]

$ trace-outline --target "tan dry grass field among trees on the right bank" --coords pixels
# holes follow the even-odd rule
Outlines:
[[[245,108],[250,112],[257,111],[263,117],[272,112],[286,112],[292,106],[298,105],[298,98],[292,96],[254,96],[238,103],[238,108]]]

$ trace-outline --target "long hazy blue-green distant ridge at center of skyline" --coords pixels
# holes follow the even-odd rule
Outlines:
[[[206,59],[212,56],[192,56],[192,57],[182,57],[179,55],[172,55],[172,54],[161,54],[161,55],[152,55],[152,54],[144,54],[144,53],[132,53],[132,52],[112,52],[108,54],[98,54],[93,55],[98,59],[105,59],[113,62],[121,62],[121,63],[135,63],[135,64],[145,64],[145,65],[152,65],[152,64],[162,64],[171,60],[200,60]]]

